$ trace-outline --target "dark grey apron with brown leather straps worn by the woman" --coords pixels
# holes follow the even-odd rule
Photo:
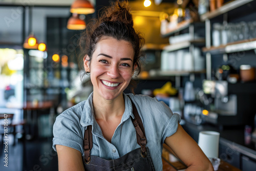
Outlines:
[[[131,100],[132,101],[132,100]],[[87,126],[87,130],[84,132],[83,145],[84,145],[84,157],[83,165],[86,170],[106,170],[106,171],[128,171],[128,170],[140,170],[140,171],[150,171],[155,170],[153,161],[150,156],[150,151],[146,147],[146,137],[144,127],[138,111],[132,102],[133,114],[135,118],[132,119],[136,133],[137,133],[137,143],[140,148],[134,149],[126,155],[114,159],[105,160],[97,156],[90,156],[90,151],[93,146],[92,140],[92,125]]]

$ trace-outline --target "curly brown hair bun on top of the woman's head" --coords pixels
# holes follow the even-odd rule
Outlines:
[[[131,14],[131,8],[127,1],[113,2],[111,8],[107,8],[104,13],[104,19],[111,22],[121,22],[133,27],[133,17]]]

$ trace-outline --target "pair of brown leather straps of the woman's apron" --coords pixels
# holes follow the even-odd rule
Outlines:
[[[128,96],[129,97],[129,96]],[[129,97],[130,98],[130,97]],[[132,99],[130,98],[133,106],[133,114],[135,118],[132,119],[133,125],[135,127],[137,133],[137,143],[141,147],[141,156],[146,157],[146,137],[145,137],[145,130],[142,123],[142,120],[138,114],[135,104],[133,103]],[[92,125],[88,125],[87,129],[84,131],[84,138],[83,138],[83,148],[84,148],[84,162],[90,163],[90,152],[93,147],[93,136],[92,136]]]

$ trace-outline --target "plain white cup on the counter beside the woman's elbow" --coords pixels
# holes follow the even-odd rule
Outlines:
[[[198,145],[208,158],[219,157],[220,133],[215,131],[201,131]]]

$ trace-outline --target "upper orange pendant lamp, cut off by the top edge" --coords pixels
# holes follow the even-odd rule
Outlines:
[[[75,0],[70,7],[70,12],[76,14],[92,14],[95,12],[95,9],[88,0]]]

